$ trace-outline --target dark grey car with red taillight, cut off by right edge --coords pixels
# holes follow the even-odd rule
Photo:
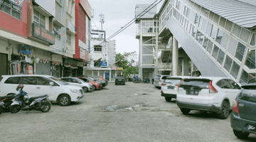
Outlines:
[[[243,85],[232,107],[231,127],[235,136],[247,138],[256,133],[256,84]]]

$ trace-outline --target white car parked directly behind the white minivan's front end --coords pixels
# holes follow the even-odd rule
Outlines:
[[[73,84],[77,85],[78,87],[82,87],[83,92],[90,92],[93,89],[91,83],[80,80],[77,77],[61,77],[60,80],[68,82],[68,84]]]

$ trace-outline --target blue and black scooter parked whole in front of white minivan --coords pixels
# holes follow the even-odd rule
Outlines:
[[[12,114],[17,113],[18,111],[50,111],[50,99],[48,99],[48,94],[38,97],[29,98],[27,93],[23,91],[23,84],[19,84],[16,90],[20,89],[20,93],[14,99],[14,102],[11,103],[10,112]],[[27,106],[26,106],[27,105]]]

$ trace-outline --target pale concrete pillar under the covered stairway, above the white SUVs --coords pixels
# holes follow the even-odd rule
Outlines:
[[[178,41],[172,36],[172,75],[178,75]]]

